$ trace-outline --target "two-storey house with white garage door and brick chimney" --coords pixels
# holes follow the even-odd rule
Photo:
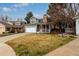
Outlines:
[[[50,24],[47,23],[46,16],[44,16],[41,20],[31,17],[30,23],[25,26],[25,32],[29,33],[50,33],[50,31],[51,27]]]

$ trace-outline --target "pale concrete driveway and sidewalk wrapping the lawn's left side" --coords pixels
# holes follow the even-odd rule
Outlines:
[[[26,33],[0,37],[0,56],[15,56],[14,50],[9,45],[5,44],[5,42],[23,35],[26,35]]]

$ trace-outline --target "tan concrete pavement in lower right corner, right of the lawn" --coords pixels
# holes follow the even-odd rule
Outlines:
[[[79,38],[46,54],[46,56],[79,56]]]

